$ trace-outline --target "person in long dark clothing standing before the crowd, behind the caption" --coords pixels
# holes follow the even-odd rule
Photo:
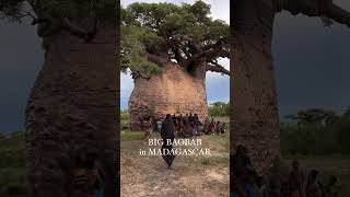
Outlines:
[[[161,137],[163,139],[162,152],[171,152],[173,150],[173,142],[175,138],[175,126],[172,119],[165,119],[162,123]],[[167,143],[168,140],[171,140],[172,144]],[[170,153],[163,154],[162,158],[167,163],[167,166],[172,166],[175,155]]]

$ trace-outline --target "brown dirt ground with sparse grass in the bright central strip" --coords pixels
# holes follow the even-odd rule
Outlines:
[[[149,148],[141,137],[121,134],[121,196],[229,196],[228,135],[199,137],[211,155],[177,155],[172,170],[159,155],[140,155],[140,149]]]

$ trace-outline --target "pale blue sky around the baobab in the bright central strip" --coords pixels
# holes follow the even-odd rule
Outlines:
[[[122,7],[127,7],[132,2],[172,2],[172,3],[194,3],[195,0],[121,0]],[[211,16],[213,19],[220,19],[230,23],[230,0],[205,0],[206,3],[211,5]],[[223,65],[228,70],[230,70],[230,60],[221,59],[220,63]],[[121,73],[120,76],[120,108],[125,109],[128,107],[129,96],[131,94],[133,82],[129,74]],[[208,103],[213,103],[215,101],[229,102],[230,100],[230,77],[222,76],[220,73],[208,72],[207,73],[207,99]]]

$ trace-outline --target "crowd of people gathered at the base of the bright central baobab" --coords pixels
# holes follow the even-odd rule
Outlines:
[[[171,119],[175,126],[175,135],[179,138],[190,138],[201,135],[220,135],[226,131],[226,124],[223,121],[211,120],[207,117],[205,123],[201,123],[198,114],[175,114],[171,115]],[[164,118],[152,118],[151,116],[143,117],[141,120],[141,130],[144,131],[144,138],[148,138],[151,131],[161,131]]]

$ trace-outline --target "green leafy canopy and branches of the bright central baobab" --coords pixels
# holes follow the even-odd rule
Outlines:
[[[183,3],[132,3],[121,9],[121,66],[132,73],[151,76],[162,71],[162,60],[188,67],[200,58],[213,67],[229,57],[229,25],[212,20],[202,1]]]

